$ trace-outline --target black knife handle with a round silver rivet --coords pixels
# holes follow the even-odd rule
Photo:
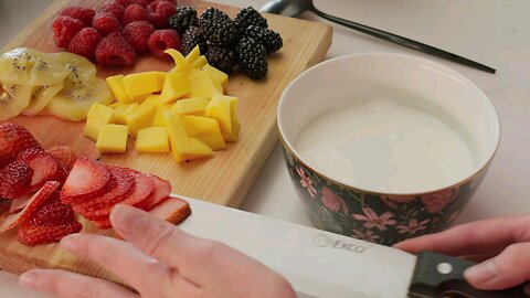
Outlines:
[[[529,286],[485,291],[473,288],[464,270],[476,263],[425,252],[417,256],[409,297],[411,298],[530,298]],[[524,291],[527,290],[527,291]]]

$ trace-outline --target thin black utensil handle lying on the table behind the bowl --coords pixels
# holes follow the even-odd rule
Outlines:
[[[375,29],[375,28],[371,28],[371,26],[368,26],[368,25],[363,25],[363,24],[360,24],[360,23],[356,23],[356,22],[352,22],[352,21],[349,21],[349,20],[344,20],[344,19],[338,18],[338,17],[328,14],[326,12],[322,12],[322,11],[318,10],[315,7],[311,8],[311,11],[315,12],[317,15],[319,15],[319,17],[328,20],[328,21],[336,22],[338,24],[341,24],[343,26],[357,30],[357,31],[362,32],[362,33],[368,34],[368,35],[372,35],[372,36],[375,36],[375,38],[379,38],[379,39],[382,39],[382,40],[385,40],[385,41],[389,41],[389,42],[393,42],[393,43],[396,43],[396,44],[400,44],[400,45],[420,51],[422,53],[426,53],[426,54],[430,54],[430,55],[433,55],[433,56],[437,56],[437,57],[441,57],[441,58],[453,61],[453,62],[456,62],[456,63],[459,63],[459,64],[463,64],[463,65],[467,65],[469,67],[477,68],[477,70],[480,70],[480,71],[485,71],[485,72],[488,72],[488,73],[491,73],[491,74],[495,74],[495,72],[496,72],[495,68],[491,68],[491,67],[489,67],[487,65],[484,65],[484,64],[480,64],[478,62],[465,58],[463,56],[458,56],[456,54],[449,53],[449,52],[441,50],[441,49],[436,49],[436,47],[431,46],[431,45],[425,44],[425,43],[413,41],[411,39],[403,38],[403,36],[400,36],[400,35],[396,35],[396,34],[393,34],[393,33],[390,33],[390,32],[385,32],[385,31],[382,31],[382,30],[379,30],[379,29]]]

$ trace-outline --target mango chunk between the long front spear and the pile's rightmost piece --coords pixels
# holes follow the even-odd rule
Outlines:
[[[226,148],[218,120],[201,116],[182,116],[186,134],[198,138],[213,150]]]

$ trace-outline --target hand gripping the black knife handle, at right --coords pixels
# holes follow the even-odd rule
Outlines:
[[[464,273],[478,289],[506,289],[530,279],[530,215],[467,223],[394,247],[413,254],[431,251],[483,262]]]

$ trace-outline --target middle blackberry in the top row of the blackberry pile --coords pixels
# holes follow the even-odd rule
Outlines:
[[[214,45],[229,45],[237,35],[230,17],[215,8],[208,8],[199,18],[199,25],[206,41]]]

